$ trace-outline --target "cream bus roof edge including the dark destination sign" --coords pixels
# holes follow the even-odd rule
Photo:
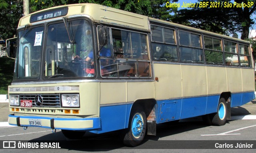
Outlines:
[[[66,9],[66,10],[65,10]],[[66,12],[65,12],[66,11]],[[60,12],[60,13],[58,13]],[[108,6],[103,6],[99,4],[90,4],[90,3],[81,3],[81,4],[70,4],[64,6],[56,6],[52,8],[47,8],[40,10],[27,16],[24,16],[20,19],[18,28],[20,26],[25,26],[27,24],[46,22],[49,20],[61,20],[62,17],[75,16],[75,15],[84,15],[89,17],[93,22],[106,23],[121,25],[130,28],[136,28],[140,30],[150,30],[150,22],[157,22],[159,24],[165,24],[173,27],[182,28],[184,30],[192,30],[199,33],[209,34],[211,36],[222,37],[229,40],[240,41],[244,43],[250,43],[245,40],[232,38],[229,36],[224,36],[221,34],[216,34],[214,32],[209,32],[205,30],[200,30],[197,28],[192,28],[189,26],[184,26],[181,24],[175,24],[172,22],[167,22],[164,20],[158,20],[155,18],[150,18],[148,16],[143,16],[140,14],[135,14],[132,12],[127,12],[124,10],[118,10],[116,8],[111,8]]]

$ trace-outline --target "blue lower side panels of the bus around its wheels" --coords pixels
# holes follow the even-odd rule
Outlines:
[[[254,97],[254,92],[234,93],[231,95],[231,107],[248,103]],[[219,99],[220,95],[211,95],[156,101],[156,123],[216,113]],[[131,107],[132,103],[100,107],[101,128],[90,132],[104,133],[128,128]]]

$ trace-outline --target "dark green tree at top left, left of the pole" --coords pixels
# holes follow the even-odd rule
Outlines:
[[[22,0],[0,0],[0,38],[13,38],[23,14]]]

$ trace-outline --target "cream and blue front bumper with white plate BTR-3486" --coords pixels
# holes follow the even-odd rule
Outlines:
[[[57,117],[38,117],[20,116],[11,114],[8,116],[8,123],[20,127],[43,127],[49,129],[67,130],[92,130],[99,129],[100,117],[92,118],[57,118]]]

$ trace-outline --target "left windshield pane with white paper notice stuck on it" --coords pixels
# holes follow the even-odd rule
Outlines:
[[[14,80],[39,79],[43,36],[43,26],[18,31]]]

